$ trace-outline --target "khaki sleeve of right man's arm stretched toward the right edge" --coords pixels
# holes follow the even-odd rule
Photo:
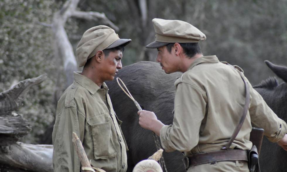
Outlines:
[[[264,135],[270,142],[278,142],[287,133],[286,122],[281,120],[266,104],[262,96],[251,87],[252,97],[249,113],[254,127],[264,129]]]

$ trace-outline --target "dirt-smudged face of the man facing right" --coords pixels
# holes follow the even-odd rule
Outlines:
[[[122,69],[122,51],[116,50],[110,52],[108,56],[104,55],[101,65],[101,75],[103,81],[111,81],[115,78],[119,69]]]

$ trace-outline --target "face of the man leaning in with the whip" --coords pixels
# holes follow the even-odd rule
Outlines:
[[[160,66],[165,71],[166,74],[170,74],[178,71],[178,60],[174,53],[174,48],[172,47],[171,52],[168,52],[166,46],[159,47],[158,49],[158,57],[156,58],[157,62],[160,62]]]

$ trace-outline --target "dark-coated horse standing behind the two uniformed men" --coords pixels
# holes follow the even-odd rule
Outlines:
[[[271,109],[286,121],[287,113],[287,68],[276,66],[268,61],[266,64],[284,83],[278,84],[275,78],[263,81],[254,88],[262,95]],[[117,77],[121,78],[134,98],[146,110],[156,113],[164,124],[172,123],[173,99],[175,95],[174,81],[181,73],[165,74],[160,65],[155,62],[139,62],[124,67]],[[156,151],[151,131],[141,128],[138,124],[137,109],[134,103],[117,85],[117,82],[107,83],[112,104],[120,120],[122,130],[129,147],[128,171],[142,159],[146,159]],[[181,161],[182,154],[178,151],[163,154],[168,171],[185,171]],[[276,143],[264,138],[260,154],[261,171],[286,171],[287,152]]]

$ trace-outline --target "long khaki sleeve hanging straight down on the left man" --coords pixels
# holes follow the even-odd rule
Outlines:
[[[83,122],[83,116],[78,114],[76,107],[65,108],[56,116],[52,135],[55,172],[80,171],[80,160],[72,142],[72,132],[75,132],[83,142],[83,129],[79,127],[79,122]]]

